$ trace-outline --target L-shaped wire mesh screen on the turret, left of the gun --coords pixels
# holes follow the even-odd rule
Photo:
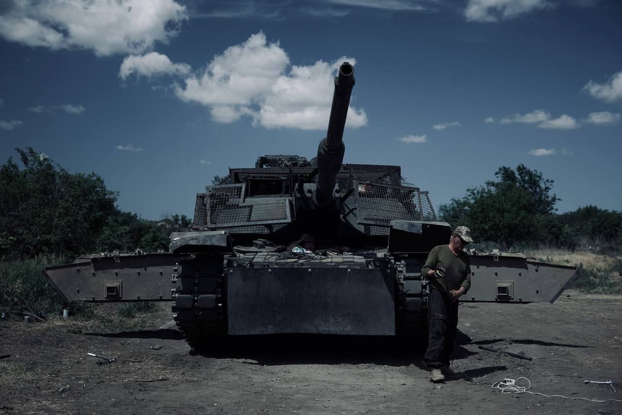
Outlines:
[[[278,224],[291,221],[289,199],[253,202],[244,200],[246,184],[208,186],[205,192],[206,225],[210,229],[262,224]]]

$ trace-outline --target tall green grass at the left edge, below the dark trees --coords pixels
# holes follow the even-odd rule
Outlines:
[[[53,256],[0,262],[0,310],[10,313],[22,310],[58,312],[64,300],[45,279],[41,270],[59,262]]]

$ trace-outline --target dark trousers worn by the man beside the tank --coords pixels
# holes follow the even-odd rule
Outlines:
[[[430,287],[428,299],[428,348],[424,363],[427,368],[448,365],[458,332],[458,302]]]

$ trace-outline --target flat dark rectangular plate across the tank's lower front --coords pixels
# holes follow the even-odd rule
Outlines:
[[[388,269],[234,268],[227,274],[228,332],[394,335],[394,295]]]

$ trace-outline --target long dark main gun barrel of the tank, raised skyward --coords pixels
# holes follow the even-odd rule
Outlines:
[[[348,62],[343,62],[335,77],[335,92],[333,92],[333,104],[330,108],[330,118],[328,118],[328,131],[317,148],[318,173],[313,201],[320,207],[332,205],[335,198],[333,189],[346,149],[343,145],[343,129],[346,126],[350,95],[354,84],[354,67]]]

